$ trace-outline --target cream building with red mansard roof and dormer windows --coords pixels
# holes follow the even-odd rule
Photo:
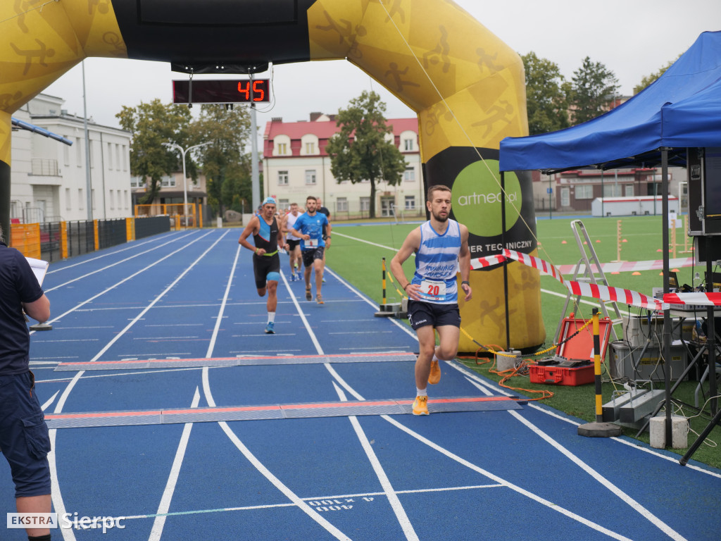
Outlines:
[[[417,118],[392,118],[389,141],[404,155],[407,166],[399,185],[376,180],[376,216],[425,216],[423,173],[418,146]],[[309,122],[283,122],[273,118],[265,125],[263,136],[263,193],[273,195],[279,208],[298,203],[304,208],[306,197],[322,198],[332,219],[368,216],[371,185],[368,180],[353,184],[338,183],[330,172],[330,157],[325,151],[328,139],[339,131],[334,115],[311,113]]]

